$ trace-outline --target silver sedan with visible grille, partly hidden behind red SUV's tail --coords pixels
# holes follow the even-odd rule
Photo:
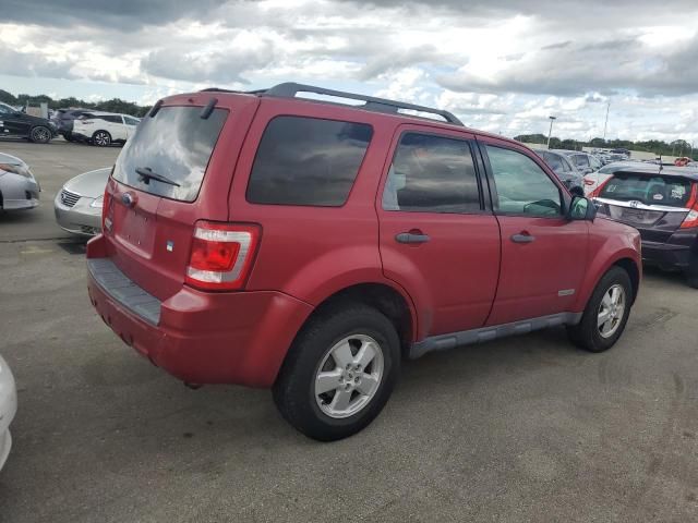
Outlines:
[[[56,221],[64,231],[92,236],[101,231],[101,206],[110,167],[72,178],[56,195]]]

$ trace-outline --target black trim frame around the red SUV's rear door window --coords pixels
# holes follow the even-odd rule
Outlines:
[[[405,126],[402,125],[397,129],[397,132],[394,135],[393,143],[392,143],[392,153],[388,155],[386,165],[383,168],[383,179],[382,179],[382,183],[378,184],[378,193],[376,195],[377,208],[380,208],[382,211],[394,212],[390,210],[383,209],[383,205],[382,205],[383,193],[387,185],[388,177],[390,175],[390,169],[393,168],[393,163],[395,161],[395,158],[397,157],[397,151],[400,147],[400,143],[402,142],[402,138],[405,137],[406,134],[421,134],[424,136],[434,136],[437,138],[464,142],[467,145],[468,149],[470,150],[470,157],[472,159],[472,165],[476,172],[476,182],[478,185],[478,197],[480,202],[480,208],[468,210],[467,212],[455,212],[455,214],[459,214],[459,215],[492,214],[492,205],[490,202],[488,202],[489,197],[488,195],[485,195],[485,183],[486,183],[485,168],[482,161],[482,157],[479,154],[479,146],[476,137],[458,136],[456,134],[440,133],[438,131],[434,131],[434,130],[425,130],[425,129],[411,127],[411,126],[408,129],[405,129]],[[488,186],[488,193],[489,193],[489,186]],[[406,211],[406,212],[409,212],[409,211]],[[437,215],[441,212],[432,212],[432,214]]]

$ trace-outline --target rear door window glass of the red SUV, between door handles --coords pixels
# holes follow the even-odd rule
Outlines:
[[[468,142],[402,135],[383,191],[385,210],[472,212],[480,192]]]

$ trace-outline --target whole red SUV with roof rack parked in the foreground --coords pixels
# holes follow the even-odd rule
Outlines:
[[[594,214],[532,150],[446,111],[208,89],[158,101],[121,151],[89,296],[155,365],[270,387],[333,440],[380,413],[402,357],[562,325],[613,345],[640,239]]]

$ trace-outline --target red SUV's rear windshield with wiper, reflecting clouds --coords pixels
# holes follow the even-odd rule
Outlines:
[[[201,110],[201,107],[163,107],[155,117],[145,117],[117,159],[115,180],[166,198],[196,199],[210,154],[228,117],[226,109],[214,109],[203,119]],[[154,178],[143,179],[136,169],[149,170],[179,186]],[[148,180],[149,183],[145,183]]]

